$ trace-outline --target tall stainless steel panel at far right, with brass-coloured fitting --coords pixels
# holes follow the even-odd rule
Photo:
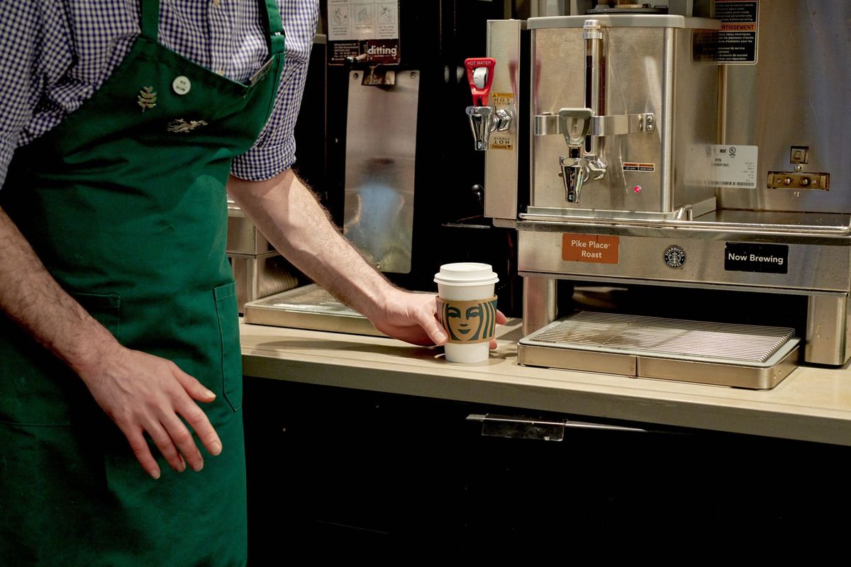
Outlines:
[[[851,3],[759,3],[756,65],[727,65],[728,145],[756,145],[757,189],[720,190],[722,207],[851,212]],[[768,189],[769,171],[793,171],[791,146],[808,146],[803,172],[830,190]]]

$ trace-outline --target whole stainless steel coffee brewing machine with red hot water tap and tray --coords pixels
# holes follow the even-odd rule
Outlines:
[[[851,4],[570,4],[488,22],[494,68],[469,63],[491,82],[467,109],[485,213],[518,233],[519,361],[746,388],[845,364]],[[563,280],[797,298],[805,323],[707,329],[688,304],[556,320]]]

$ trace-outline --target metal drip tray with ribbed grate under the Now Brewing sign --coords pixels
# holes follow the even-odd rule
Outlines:
[[[774,388],[797,366],[791,328],[580,311],[524,337],[527,366]]]

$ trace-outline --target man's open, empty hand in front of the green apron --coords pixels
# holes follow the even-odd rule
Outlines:
[[[212,455],[221,452],[221,441],[207,415],[195,403],[211,402],[215,394],[174,362],[120,345],[91,368],[77,369],[100,407],[129,441],[130,448],[154,479],[160,468],[151,455],[148,434],[168,464],[177,472],[186,463],[196,471],[204,466],[192,434],[180,417],[201,439]]]

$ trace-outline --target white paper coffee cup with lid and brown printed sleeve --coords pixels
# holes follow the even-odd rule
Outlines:
[[[437,282],[437,319],[449,341],[449,362],[482,362],[490,355],[496,326],[494,284],[500,281],[489,264],[443,264]]]

